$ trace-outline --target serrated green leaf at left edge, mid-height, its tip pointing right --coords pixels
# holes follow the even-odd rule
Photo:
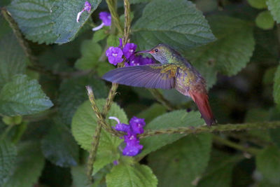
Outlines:
[[[38,81],[25,75],[14,76],[0,92],[0,113],[6,116],[38,113],[52,105]]]

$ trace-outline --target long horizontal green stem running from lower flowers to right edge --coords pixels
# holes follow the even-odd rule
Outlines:
[[[227,132],[250,129],[268,129],[280,127],[280,121],[260,122],[260,123],[241,123],[241,124],[226,124],[200,126],[200,127],[177,127],[162,130],[146,130],[143,134],[139,134],[139,138],[151,137],[159,134],[197,134],[202,132]]]

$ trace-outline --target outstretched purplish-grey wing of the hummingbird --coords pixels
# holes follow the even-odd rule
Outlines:
[[[113,69],[102,77],[106,81],[144,88],[174,88],[178,66],[175,64],[148,64]]]

